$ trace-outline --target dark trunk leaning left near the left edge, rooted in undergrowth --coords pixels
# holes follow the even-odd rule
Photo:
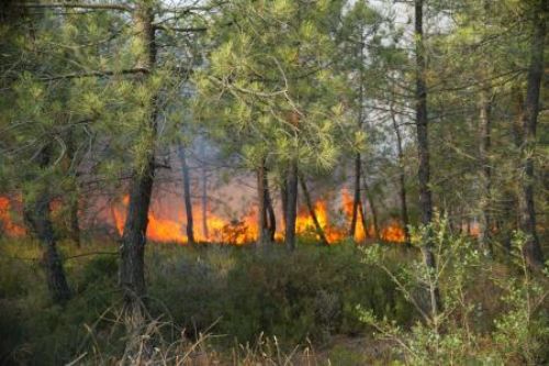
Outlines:
[[[48,146],[46,146],[38,155],[41,168],[46,168],[49,165],[49,160],[51,152]],[[57,242],[49,208],[51,197],[47,186],[40,188],[40,192],[33,201],[24,201],[24,211],[27,215],[27,221],[42,244],[47,288],[53,300],[57,303],[63,303],[70,299],[70,289],[65,277],[63,262],[57,252]]]

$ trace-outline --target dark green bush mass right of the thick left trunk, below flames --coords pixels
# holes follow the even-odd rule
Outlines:
[[[365,328],[358,302],[408,321],[412,312],[394,284],[360,263],[359,254],[350,244],[300,245],[291,254],[281,246],[161,248],[150,256],[149,293],[156,311],[166,308],[189,333],[215,323],[213,331],[227,334],[229,343],[254,342],[261,333],[289,343],[357,334]]]

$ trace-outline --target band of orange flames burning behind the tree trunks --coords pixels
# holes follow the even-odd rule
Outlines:
[[[173,187],[172,187],[173,188]],[[176,187],[177,188],[177,187]],[[223,202],[214,196],[197,199],[192,215],[194,221],[194,240],[198,243],[220,243],[229,245],[246,245],[256,242],[259,235],[258,209],[254,200],[244,198],[245,192],[224,195],[233,201],[244,202],[239,208],[227,209],[231,199]],[[253,196],[253,195],[251,195]],[[202,201],[202,202],[201,202]],[[205,202],[205,204],[204,204]],[[63,200],[54,200],[52,211],[63,210]],[[274,201],[274,203],[278,203]],[[93,232],[98,228],[112,228],[114,235],[121,236],[124,231],[128,197],[107,199],[105,197],[89,197],[80,203],[79,222],[82,231]],[[328,244],[336,244],[348,237],[352,217],[352,198],[348,189],[343,188],[329,199],[318,199],[313,203],[314,214]],[[12,237],[24,236],[26,231],[22,223],[21,200],[0,197],[0,223],[2,232]],[[277,232],[274,239],[283,240],[284,224],[281,220],[281,209],[277,210]],[[360,212],[359,212],[360,215]],[[365,228],[363,222],[368,228]],[[357,220],[355,241],[357,243],[376,237],[376,230],[370,220]],[[177,189],[157,189],[148,212],[147,239],[157,243],[189,242],[186,234],[187,214],[182,197]],[[318,229],[314,223],[311,210],[300,204],[295,222],[298,235],[312,241],[320,240]],[[404,231],[396,221],[389,221],[379,229],[378,236],[386,242],[404,242]]]

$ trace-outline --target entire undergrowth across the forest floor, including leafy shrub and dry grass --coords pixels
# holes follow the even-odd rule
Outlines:
[[[548,274],[527,269],[524,237],[500,263],[444,220],[429,230],[434,269],[417,249],[422,231],[413,248],[150,244],[148,321],[132,339],[121,321],[115,243],[61,243],[74,296],[59,307],[48,298],[37,244],[2,241],[0,364],[548,363]]]

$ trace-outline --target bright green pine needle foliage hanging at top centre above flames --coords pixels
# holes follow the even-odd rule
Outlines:
[[[340,1],[232,1],[212,27],[217,46],[209,67],[194,77],[194,112],[247,166],[266,158],[271,166],[293,159],[302,168],[335,164],[344,85],[326,65],[335,49],[329,22],[340,7]]]

